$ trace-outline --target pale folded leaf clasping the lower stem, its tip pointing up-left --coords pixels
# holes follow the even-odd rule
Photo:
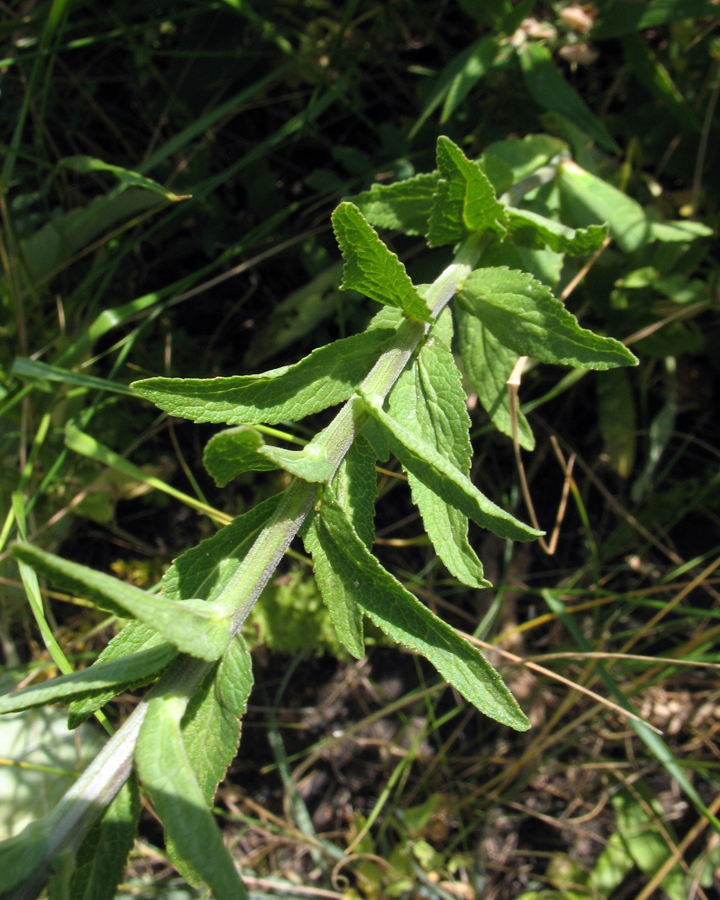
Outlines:
[[[130,613],[184,653],[213,660],[222,656],[228,645],[231,620],[219,617],[200,600],[174,603],[32,544],[14,544],[12,552],[55,584],[84,594],[102,609],[120,616]]]

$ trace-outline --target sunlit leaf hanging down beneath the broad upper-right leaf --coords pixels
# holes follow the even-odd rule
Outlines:
[[[518,354],[501,344],[480,319],[476,319],[459,304],[455,306],[455,315],[458,322],[458,350],[470,384],[498,431],[512,437],[507,380],[518,361]],[[517,419],[520,446],[533,450],[535,436],[530,423],[519,409]]]

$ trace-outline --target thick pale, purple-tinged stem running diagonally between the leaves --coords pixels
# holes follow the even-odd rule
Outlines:
[[[492,240],[489,235],[472,235],[460,247],[455,259],[425,294],[426,302],[437,317],[477,263]],[[400,377],[410,357],[425,337],[429,325],[406,319],[397,330],[391,348],[378,359],[362,382],[362,391],[382,402]],[[356,435],[368,420],[358,394],[354,394],[330,425],[313,439],[322,446],[335,469],[340,465]],[[233,634],[242,628],[255,602],[270,580],[291,541],[318,499],[320,485],[293,479],[272,518],[258,535],[237,572],[216,601],[218,612],[233,616]],[[188,692],[199,683],[207,663],[181,657],[136,708],[78,781],[67,791],[50,814],[47,823],[52,837],[44,865],[12,892],[12,900],[32,900],[50,875],[52,860],[70,846],[79,846],[82,837],[102,813],[130,775],[140,727],[151,696],[159,690],[184,687]],[[188,669],[192,670],[189,672]],[[202,673],[201,673],[202,670]],[[200,673],[200,674],[198,674]],[[177,684],[175,682],[178,682]],[[182,682],[182,685],[180,684]],[[189,695],[189,694],[188,694]],[[10,900],[10,897],[8,897]]]

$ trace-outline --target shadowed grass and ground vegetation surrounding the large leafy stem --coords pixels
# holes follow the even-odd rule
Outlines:
[[[253,473],[218,490],[202,466],[214,429],[159,415],[125,386],[252,373],[357,332],[373,310],[337,290],[338,201],[432,169],[439,134],[468,156],[553,135],[648,222],[687,223],[686,239],[641,245],[613,201],[601,210],[613,240],[577,286],[587,260],[542,260],[569,308],[641,364],[525,374],[537,443],[523,458],[548,531],[563,486],[551,438],[576,454],[553,556],[478,531],[495,587],[463,588],[426,543],[397,464],[379,473],[375,547],[431,608],[496,646],[534,728],[484,719],[379,637],[349,662],[298,545],[248,628],[256,687],[217,811],[256,896],[717,897],[718,834],[678,782],[717,812],[720,323],[717,247],[698,237],[699,223],[716,229],[720,199],[717,6],[3,11],[2,689],[56,674],[56,647],[87,665],[118,627],[48,590],[43,642],[5,552],[23,515],[36,543],[150,587],[284,484]],[[542,199],[587,224],[550,190]],[[446,260],[412,238],[392,246],[416,282]],[[473,477],[526,517],[512,444],[469,393]],[[573,685],[631,698],[672,757]],[[101,737],[85,727],[76,746],[62,715],[3,720],[0,837],[92,756]],[[143,815],[123,892],[189,892]]]

